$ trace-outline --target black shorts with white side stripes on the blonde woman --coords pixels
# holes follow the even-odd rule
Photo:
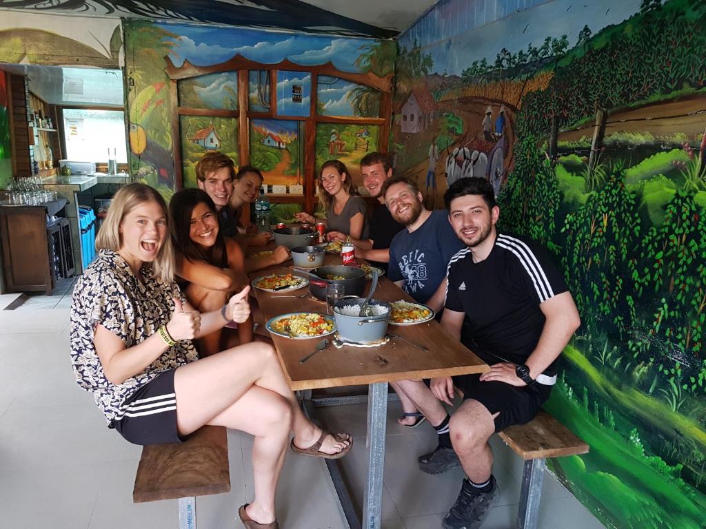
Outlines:
[[[134,444],[180,443],[175,371],[176,368],[161,373],[126,399],[125,414],[120,420],[113,420],[110,427]]]

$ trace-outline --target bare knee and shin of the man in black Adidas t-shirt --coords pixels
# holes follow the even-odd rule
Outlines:
[[[488,408],[478,401],[468,400],[449,421],[453,449],[469,480],[474,483],[484,483],[490,479],[493,451],[488,439],[495,433],[493,420],[497,416],[498,413],[491,415]]]

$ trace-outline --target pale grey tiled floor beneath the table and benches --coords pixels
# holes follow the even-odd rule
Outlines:
[[[68,306],[72,284],[54,296],[30,296],[16,310],[0,311],[0,527],[13,529],[160,529],[178,525],[177,501],[132,503],[140,447],[104,426],[90,395],[73,379],[68,362]],[[333,430],[347,430],[354,448],[342,459],[345,478],[362,504],[365,479],[363,405],[320,408]],[[415,458],[433,447],[428,425],[415,430],[395,422],[390,403],[383,528],[431,529],[453,503],[462,472],[421,473]],[[198,498],[201,528],[241,528],[237,508],[252,494],[251,437],[229,432],[232,490]],[[513,528],[522,461],[498,439],[495,475],[501,496],[484,529]],[[289,454],[277,492],[280,526],[338,529],[344,525],[325,465]],[[546,475],[540,529],[601,528],[553,476]]]

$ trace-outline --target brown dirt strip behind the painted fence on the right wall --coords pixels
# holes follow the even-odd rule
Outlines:
[[[609,111],[606,121],[606,136],[616,132],[645,133],[671,136],[683,133],[690,139],[700,138],[706,126],[706,95],[695,95],[683,99],[647,104],[635,109]],[[577,141],[582,136],[590,140],[594,124],[564,130],[559,133],[561,141]]]

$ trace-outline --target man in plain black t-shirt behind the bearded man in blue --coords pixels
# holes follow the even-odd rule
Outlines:
[[[369,238],[352,240],[355,245],[355,255],[387,272],[388,262],[390,262],[390,242],[404,227],[390,215],[390,211],[385,206],[385,197],[381,195],[383,183],[393,176],[393,169],[388,163],[386,154],[371,152],[361,159],[360,172],[363,176],[363,186],[371,197],[377,199],[377,203],[369,222]],[[345,236],[340,237],[340,240],[345,241]]]

